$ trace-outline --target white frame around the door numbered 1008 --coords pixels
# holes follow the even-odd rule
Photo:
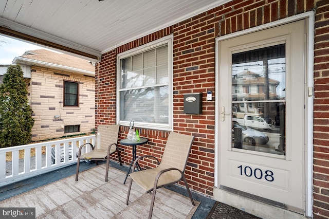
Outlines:
[[[275,21],[275,22],[271,22],[268,24],[264,24],[258,27],[253,27],[247,30],[243,30],[243,31],[239,31],[239,32],[235,32],[235,33],[231,33],[228,35],[224,35],[224,36],[220,36],[218,38],[215,39],[215,130],[219,130],[219,121],[220,121],[220,93],[219,93],[219,89],[218,87],[220,86],[219,80],[220,80],[220,74],[219,74],[219,70],[218,70],[218,46],[219,46],[219,42],[222,40],[226,40],[229,38],[233,38],[236,36],[240,36],[240,35],[244,35],[247,33],[251,33],[251,32],[255,32],[255,31],[259,31],[259,30],[264,30],[264,29],[268,29],[268,28],[272,28],[272,27],[276,27],[276,26],[280,26],[280,25],[284,25],[287,23],[291,23],[291,22],[295,22],[298,20],[305,20],[305,31],[307,31],[307,38],[305,38],[305,51],[306,51],[306,58],[305,58],[305,81],[306,81],[306,87],[305,90],[308,91],[307,94],[307,98],[305,99],[305,107],[306,107],[306,118],[305,118],[305,137],[306,137],[306,145],[305,145],[305,178],[304,178],[304,192],[305,192],[305,216],[312,216],[312,210],[313,210],[313,200],[312,200],[312,196],[313,196],[313,191],[312,191],[312,187],[313,187],[313,99],[314,99],[314,83],[313,83],[313,72],[314,72],[314,55],[313,55],[313,51],[314,51],[314,21],[315,21],[315,12],[314,11],[310,11],[310,12],[305,12],[299,15],[295,15],[293,17],[287,17],[286,19],[282,19],[279,21]],[[220,189],[220,185],[219,185],[219,163],[220,163],[220,148],[219,148],[219,134],[218,131],[215,131],[215,163],[214,163],[214,199],[218,200],[220,202],[224,202],[226,204],[230,204],[232,206],[234,206],[234,202],[231,201],[234,199],[234,196],[236,196],[235,194],[230,194],[229,192],[226,192],[222,189]],[[221,195],[218,195],[218,193],[220,193]],[[260,203],[259,201],[255,201],[253,199],[249,199],[249,198],[245,198],[244,196],[239,196],[237,197],[239,200],[241,199],[245,199],[246,203],[250,203],[250,202],[255,202],[255,204],[257,204],[258,206],[262,203]],[[247,205],[249,206],[249,205]],[[238,205],[236,205],[235,207],[239,207]],[[285,212],[284,209],[278,209],[277,207],[274,206],[269,206],[267,204],[264,203],[264,208],[275,208],[273,209],[274,211],[276,210],[282,210]],[[248,212],[248,207],[244,207],[246,212]],[[250,207],[252,208],[252,207]],[[255,209],[250,209],[249,212],[251,212],[251,210]],[[263,209],[264,210],[264,209]],[[260,210],[261,211],[261,210]],[[271,210],[269,209],[269,212]],[[265,211],[263,211],[265,212]],[[289,212],[288,212],[289,213]],[[293,212],[291,212],[293,213]],[[296,213],[293,213],[296,214]]]

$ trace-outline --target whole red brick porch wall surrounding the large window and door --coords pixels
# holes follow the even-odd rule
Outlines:
[[[116,54],[173,33],[173,130],[193,134],[195,140],[188,160],[186,177],[190,187],[212,196],[214,186],[214,98],[206,100],[208,90],[215,90],[215,38],[270,23],[288,16],[316,10],[315,22],[315,101],[314,101],[314,218],[329,216],[329,3],[322,1],[232,1],[223,6],[145,36],[103,54],[96,82],[96,122],[116,122]],[[96,70],[97,72],[98,70]],[[112,78],[112,83],[108,81]],[[109,90],[103,94],[101,90]],[[185,115],[183,95],[203,92],[203,114]],[[106,112],[105,112],[106,111]],[[128,127],[121,127],[120,138],[126,137]],[[160,157],[168,132],[141,130],[150,139],[138,147],[140,154]],[[131,149],[120,146],[125,164],[131,160]],[[138,154],[139,155],[139,154]],[[153,166],[145,162],[143,165]],[[180,182],[182,183],[182,182]]]

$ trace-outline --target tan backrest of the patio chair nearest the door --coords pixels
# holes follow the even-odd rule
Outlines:
[[[184,172],[194,136],[171,132],[163,152],[161,168],[177,168]]]

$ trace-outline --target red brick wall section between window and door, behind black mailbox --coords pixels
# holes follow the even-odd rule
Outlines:
[[[194,143],[186,168],[190,187],[212,196],[214,186],[215,29],[213,12],[200,14],[174,25],[174,131],[192,133]],[[203,93],[202,115],[184,114],[184,94]]]

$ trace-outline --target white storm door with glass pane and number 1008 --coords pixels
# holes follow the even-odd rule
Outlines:
[[[220,188],[301,214],[304,60],[304,20],[218,43]]]

